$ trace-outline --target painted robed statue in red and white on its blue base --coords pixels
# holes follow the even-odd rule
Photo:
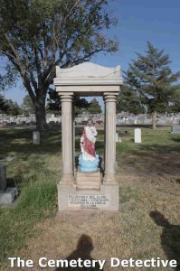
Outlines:
[[[84,127],[81,135],[81,155],[79,164],[82,172],[94,172],[98,169],[99,155],[95,152],[97,135],[96,127],[93,126],[93,120],[90,117],[87,121],[87,126]]]

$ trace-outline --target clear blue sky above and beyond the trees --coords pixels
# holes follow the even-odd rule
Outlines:
[[[116,29],[109,31],[118,37],[119,50],[114,55],[100,53],[92,62],[127,70],[135,52],[146,50],[149,41],[170,55],[172,70],[180,70],[180,0],[109,0],[109,12],[119,20]],[[19,104],[24,95],[18,88],[5,93]]]

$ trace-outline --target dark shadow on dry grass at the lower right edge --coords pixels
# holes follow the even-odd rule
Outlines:
[[[177,266],[175,270],[180,270],[180,226],[172,225],[162,213],[157,210],[150,212],[150,217],[156,226],[162,228],[161,246],[165,251],[167,259],[175,259]]]

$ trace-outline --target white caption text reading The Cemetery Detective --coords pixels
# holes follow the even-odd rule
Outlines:
[[[11,267],[29,267],[32,268],[33,266],[40,266],[42,268],[46,267],[64,267],[64,268],[76,268],[76,267],[96,267],[99,266],[99,270],[102,270],[103,267],[105,266],[106,262],[108,260],[82,260],[81,258],[78,259],[48,259],[47,257],[41,257],[38,261],[38,263],[34,263],[32,259],[27,259],[24,260],[20,257],[9,257],[8,258],[10,261],[10,266]],[[119,259],[118,257],[111,257],[109,259],[108,263],[112,268],[116,267],[177,267],[177,262],[175,259],[172,260],[164,260],[161,259],[160,257],[156,258],[151,258],[151,259],[146,259],[146,260],[141,260],[141,259],[134,259],[134,258],[129,258],[129,259]]]

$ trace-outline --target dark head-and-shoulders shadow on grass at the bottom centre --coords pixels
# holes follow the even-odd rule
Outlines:
[[[92,240],[90,236],[82,234],[81,238],[78,241],[77,248],[72,251],[71,255],[66,258],[67,262],[69,263],[71,260],[76,260],[81,259],[83,262],[85,260],[89,260],[90,265],[92,265],[92,261],[94,259],[90,256],[91,251],[93,250],[94,246],[92,243]],[[88,267],[88,266],[82,266],[82,267],[57,267],[55,271],[61,271],[61,270],[75,270],[75,271],[87,271],[87,270],[99,270],[99,264],[96,262],[95,266],[93,267]],[[101,269],[103,270],[103,269]]]

